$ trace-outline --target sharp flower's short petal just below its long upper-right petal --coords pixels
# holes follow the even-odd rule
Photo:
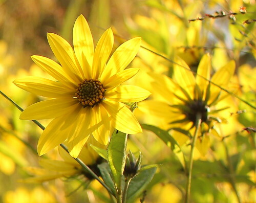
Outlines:
[[[118,72],[117,74],[115,74],[111,77],[105,78],[105,80],[100,79],[100,81],[104,85],[105,89],[113,88],[115,86],[118,86],[118,85],[122,84],[126,80],[129,80],[133,76],[135,76],[138,73],[139,70],[140,69],[138,69],[136,67],[132,67],[130,69],[120,71],[120,72]]]

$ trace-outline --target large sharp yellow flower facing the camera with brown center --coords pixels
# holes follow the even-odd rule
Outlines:
[[[47,38],[60,65],[43,56],[32,56],[32,60],[57,81],[40,77],[14,81],[30,93],[51,98],[32,104],[20,115],[26,120],[53,119],[39,138],[38,154],[67,139],[70,154],[77,157],[90,136],[107,145],[114,128],[141,133],[140,124],[124,103],[142,101],[150,93],[141,87],[121,85],[139,71],[124,69],[136,56],[141,38],[124,42],[109,59],[114,43],[111,28],[102,34],[94,50],[90,28],[82,15],[73,28],[74,50],[54,33],[48,33]]]

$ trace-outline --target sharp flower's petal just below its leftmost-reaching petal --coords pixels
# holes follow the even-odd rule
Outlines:
[[[73,112],[79,105],[75,99],[50,99],[40,101],[26,108],[19,119],[52,119]]]

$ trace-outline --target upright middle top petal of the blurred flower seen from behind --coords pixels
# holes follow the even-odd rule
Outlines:
[[[203,94],[205,93],[208,85],[207,80],[210,80],[210,69],[211,69],[210,55],[205,54],[198,65],[197,76],[196,76],[196,83]]]

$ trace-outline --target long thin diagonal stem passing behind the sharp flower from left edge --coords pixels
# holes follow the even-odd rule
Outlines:
[[[17,107],[20,111],[23,111],[23,108],[20,107],[18,104],[16,104],[11,98],[9,98],[7,95],[5,95],[2,91],[0,91],[0,94],[3,95],[8,101],[10,101],[15,107]],[[37,120],[32,120],[37,126],[39,126],[42,130],[45,130],[45,127],[39,123]],[[65,149],[65,151],[67,151],[69,153],[69,150],[68,148],[63,145],[63,144],[60,144],[60,146]],[[108,190],[108,192],[110,194],[113,194],[113,192],[111,191],[111,189],[105,185],[105,183],[103,181],[101,181],[101,179],[86,165],[84,164],[79,158],[74,158],[81,166],[83,169],[86,169],[89,173],[91,173],[91,175],[97,179],[97,181],[106,189]],[[113,194],[114,195],[114,194]]]

